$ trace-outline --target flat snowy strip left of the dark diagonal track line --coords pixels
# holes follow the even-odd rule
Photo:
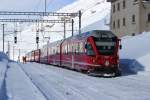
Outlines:
[[[8,100],[46,100],[19,64],[11,62],[8,66],[9,69],[6,74]]]

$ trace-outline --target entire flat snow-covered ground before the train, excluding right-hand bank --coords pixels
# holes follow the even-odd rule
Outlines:
[[[150,99],[149,73],[102,78],[37,63],[10,62],[0,68],[3,100]]]

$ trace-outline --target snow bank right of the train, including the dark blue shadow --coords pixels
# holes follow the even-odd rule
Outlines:
[[[120,62],[125,72],[150,71],[150,32],[122,38]]]

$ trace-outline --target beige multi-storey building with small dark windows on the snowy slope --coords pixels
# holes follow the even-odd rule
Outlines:
[[[150,0],[107,0],[111,2],[110,29],[119,37],[150,31]]]

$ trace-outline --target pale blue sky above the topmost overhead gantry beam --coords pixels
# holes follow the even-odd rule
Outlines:
[[[47,9],[58,10],[75,0],[47,0]],[[44,11],[45,0],[0,0],[0,10]]]

